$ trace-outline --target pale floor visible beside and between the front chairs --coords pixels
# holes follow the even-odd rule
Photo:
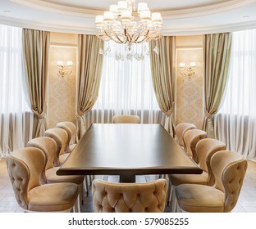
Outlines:
[[[112,179],[116,179],[112,177]],[[139,182],[143,181],[144,176],[138,177]],[[111,179],[109,179],[111,180]],[[82,212],[93,212],[93,201],[91,192],[85,198],[82,206]],[[169,212],[170,209],[166,209]],[[0,213],[17,213],[22,209],[16,203],[14,193],[12,191],[11,182],[7,175],[6,160],[0,159]],[[249,161],[249,167],[245,175],[244,185],[240,192],[238,203],[232,212],[235,213],[256,213],[256,162]]]

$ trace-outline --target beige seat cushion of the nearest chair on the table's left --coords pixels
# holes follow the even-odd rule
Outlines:
[[[34,187],[28,193],[28,210],[37,212],[61,212],[71,209],[79,194],[74,183],[46,184]]]

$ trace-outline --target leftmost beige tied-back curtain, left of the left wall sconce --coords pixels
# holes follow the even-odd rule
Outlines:
[[[50,33],[34,29],[22,32],[25,87],[30,108],[38,116],[35,137],[43,136],[46,123],[46,89],[48,81],[48,54]]]

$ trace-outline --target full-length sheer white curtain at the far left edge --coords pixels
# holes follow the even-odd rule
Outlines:
[[[0,25],[0,157],[25,146],[33,115],[22,92],[21,28]]]

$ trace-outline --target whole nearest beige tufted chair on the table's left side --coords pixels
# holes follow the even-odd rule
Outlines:
[[[7,155],[7,171],[17,203],[25,212],[70,212],[77,209],[79,186],[71,182],[40,183],[45,160],[43,151],[34,147]]]

